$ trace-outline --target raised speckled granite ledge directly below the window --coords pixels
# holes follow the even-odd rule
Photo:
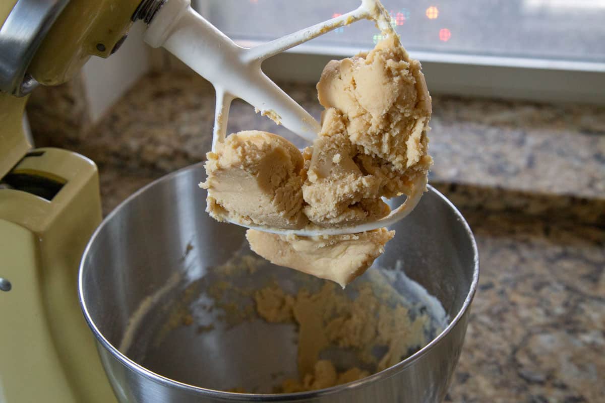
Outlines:
[[[312,86],[283,87],[319,117]],[[166,172],[203,160],[211,142],[213,94],[194,74],[149,74],[86,135],[86,146],[102,162]],[[45,143],[57,137],[52,130],[55,103],[42,104],[47,114],[36,110],[38,119],[48,117],[38,124],[39,140]],[[605,195],[605,108],[434,97],[433,109],[433,180],[589,198]],[[243,102],[234,102],[231,117],[229,132],[274,131],[304,144]],[[68,140],[77,141],[77,135]]]

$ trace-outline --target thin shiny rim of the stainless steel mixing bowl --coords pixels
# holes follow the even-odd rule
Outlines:
[[[477,249],[477,242],[475,240],[471,227],[468,225],[468,222],[466,222],[466,219],[462,216],[462,213],[460,213],[460,211],[456,208],[456,206],[454,206],[454,204],[448,198],[443,196],[442,193],[440,193],[438,190],[436,190],[433,186],[431,186],[429,184],[429,185],[427,185],[427,192],[432,192],[435,195],[437,195],[437,197],[439,197],[443,202],[445,202],[446,205],[448,205],[451,208],[451,210],[453,210],[454,214],[456,214],[458,220],[462,224],[463,229],[465,230],[466,236],[468,236],[469,240],[471,241],[471,247],[473,248],[473,279],[471,280],[471,285],[469,287],[468,294],[466,294],[465,301],[462,304],[462,308],[460,308],[460,310],[457,312],[456,316],[450,321],[448,326],[446,326],[445,329],[443,329],[439,335],[437,335],[435,338],[433,338],[433,340],[431,340],[430,343],[428,343],[426,346],[422,347],[422,349],[420,349],[417,352],[413,353],[412,355],[408,356],[403,361],[395,364],[394,366],[388,367],[387,369],[384,369],[380,372],[376,372],[370,376],[359,379],[357,381],[348,382],[346,384],[336,385],[336,386],[332,386],[329,388],[312,390],[310,392],[296,392],[296,393],[267,393],[267,394],[264,394],[264,393],[225,392],[222,390],[203,388],[203,387],[198,387],[195,385],[186,384],[185,382],[175,381],[174,379],[170,379],[166,376],[160,375],[159,373],[155,373],[155,372],[143,367],[142,365],[136,363],[134,360],[128,358],[128,356],[126,356],[124,353],[120,352],[120,350],[118,350],[117,347],[113,346],[113,344],[111,344],[110,341],[108,341],[101,334],[99,328],[96,326],[96,324],[94,323],[90,314],[88,313],[88,306],[83,297],[84,288],[85,288],[84,284],[83,284],[85,260],[87,259],[90,248],[93,245],[96,237],[99,236],[99,233],[103,230],[103,228],[105,227],[107,222],[111,221],[111,219],[121,210],[121,208],[124,205],[126,205],[129,202],[131,202],[132,200],[136,199],[137,197],[139,197],[140,195],[145,193],[148,189],[151,189],[152,187],[159,184],[160,182],[170,181],[171,179],[174,179],[177,176],[185,175],[185,173],[189,172],[190,170],[199,169],[200,167],[203,166],[203,164],[204,164],[204,162],[192,164],[192,165],[183,167],[179,170],[176,170],[174,172],[168,173],[167,175],[164,175],[160,178],[155,179],[154,181],[143,186],[136,192],[132,193],[132,195],[128,196],[128,198],[126,198],[119,205],[117,205],[117,207],[114,208],[103,219],[103,221],[99,224],[99,226],[96,228],[96,230],[94,230],[93,235],[88,240],[86,248],[84,249],[84,251],[82,253],[82,258],[80,259],[80,265],[79,265],[79,269],[78,269],[78,290],[77,290],[78,291],[78,300],[80,303],[80,308],[82,309],[82,314],[88,324],[88,327],[90,327],[90,329],[92,330],[94,337],[97,339],[97,341],[109,353],[111,353],[111,355],[114,358],[116,358],[123,366],[125,366],[129,370],[139,373],[140,375],[143,375],[146,378],[151,379],[152,381],[181,389],[184,392],[198,393],[200,395],[203,395],[203,396],[206,396],[209,398],[223,399],[224,401],[235,401],[235,402],[237,402],[237,401],[240,401],[240,402],[248,401],[249,402],[249,401],[261,401],[261,400],[262,401],[296,401],[299,399],[318,398],[320,396],[329,396],[329,395],[333,395],[335,393],[342,392],[344,390],[362,387],[363,385],[370,384],[371,382],[377,381],[378,379],[390,378],[391,376],[395,375],[396,373],[401,372],[401,370],[411,366],[411,364],[416,362],[418,359],[422,358],[422,356],[426,355],[429,352],[429,350],[433,349],[433,347],[436,346],[436,344],[439,344],[440,341],[442,341],[451,332],[451,330],[454,327],[456,327],[456,325],[461,320],[463,315],[465,315],[466,312],[468,311],[469,306],[471,305],[471,302],[473,301],[473,297],[477,290],[477,284],[479,283],[479,250]],[[109,381],[109,379],[108,379],[108,381]]]

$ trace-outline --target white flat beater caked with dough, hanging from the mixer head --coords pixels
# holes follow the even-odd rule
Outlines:
[[[229,107],[235,98],[246,101],[299,137],[313,141],[321,130],[318,121],[263,73],[261,63],[296,45],[361,19],[373,20],[382,33],[396,35],[382,4],[376,0],[362,0],[361,5],[349,13],[254,48],[243,48],[191,8],[191,0],[169,0],[149,24],[144,39],[154,48],[166,48],[214,86],[217,97],[212,136],[214,151],[217,143],[225,139]],[[388,227],[410,214],[420,201],[426,185],[426,178],[419,179],[413,184],[411,195],[388,216],[360,225],[291,230],[230,222],[270,233],[299,236],[370,231]]]

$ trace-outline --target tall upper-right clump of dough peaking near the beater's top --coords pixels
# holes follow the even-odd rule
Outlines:
[[[348,137],[365,155],[403,176],[410,167],[426,173],[431,97],[420,62],[410,59],[399,37],[388,36],[367,54],[329,62],[317,92],[324,108],[345,115]]]

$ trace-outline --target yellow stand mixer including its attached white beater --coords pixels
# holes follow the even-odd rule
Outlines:
[[[299,31],[299,37],[293,34],[252,49],[243,60],[253,63],[262,75],[256,74],[257,79],[264,80],[262,60],[368,18],[368,7],[376,3],[364,0],[352,13]],[[77,153],[31,149],[22,127],[28,94],[38,85],[67,81],[90,56],[110,56],[137,20],[150,24],[149,44],[168,48],[205,77],[209,73],[200,71],[199,60],[193,66],[195,60],[188,62],[188,55],[210,51],[213,38],[216,43],[226,43],[228,38],[192,12],[187,0],[5,0],[0,4],[0,402],[115,401],[77,303],[78,263],[101,221],[97,169]],[[155,21],[155,16],[162,18]],[[389,28],[387,20],[378,25]],[[185,43],[196,35],[206,39],[206,48]],[[189,53],[189,47],[195,51]],[[223,63],[236,62],[227,57]],[[242,72],[246,71],[244,66]],[[230,79],[217,85],[217,80],[207,78],[217,89],[216,143],[224,139],[229,103],[240,94],[226,87]],[[248,91],[249,95],[240,96],[293,132],[314,137],[318,123],[269,83],[267,79],[269,87],[263,94]],[[260,96],[270,92],[273,98]],[[263,108],[265,100],[268,108]],[[300,121],[306,126],[296,127]],[[417,184],[418,192],[384,221],[347,232],[393,224],[416,205],[425,185]]]

